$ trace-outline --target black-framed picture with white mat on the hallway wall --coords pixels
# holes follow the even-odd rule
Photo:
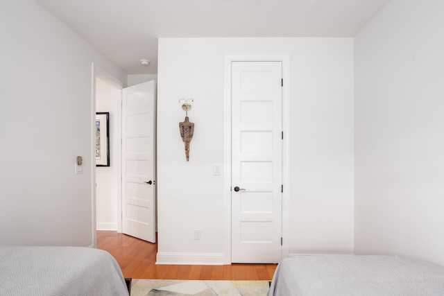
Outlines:
[[[110,166],[110,112],[96,112],[96,166]]]

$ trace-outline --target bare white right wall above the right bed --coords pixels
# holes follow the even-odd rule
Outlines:
[[[444,264],[444,1],[392,0],[355,38],[355,250]]]

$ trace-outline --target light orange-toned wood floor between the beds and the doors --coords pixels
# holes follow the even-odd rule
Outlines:
[[[117,232],[97,231],[97,248],[114,256],[133,279],[271,280],[277,264],[155,265],[157,244]]]

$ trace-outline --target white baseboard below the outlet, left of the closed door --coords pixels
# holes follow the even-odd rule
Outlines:
[[[156,264],[170,265],[224,265],[222,253],[157,253]]]

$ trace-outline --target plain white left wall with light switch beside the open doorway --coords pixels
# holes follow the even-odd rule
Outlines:
[[[0,6],[0,244],[93,245],[92,62],[126,74],[35,1]]]

